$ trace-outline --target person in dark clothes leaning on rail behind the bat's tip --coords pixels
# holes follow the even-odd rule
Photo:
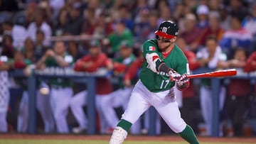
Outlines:
[[[220,68],[243,69],[247,55],[245,48],[236,48],[233,59],[223,62]],[[234,136],[243,136],[245,112],[250,96],[250,79],[230,79],[228,84],[227,109]]]

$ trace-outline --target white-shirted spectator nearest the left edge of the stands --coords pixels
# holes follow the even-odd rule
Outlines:
[[[27,37],[26,28],[24,26],[16,25],[11,21],[5,21],[3,23],[3,31],[4,33],[11,33],[14,48],[23,47],[24,40]]]

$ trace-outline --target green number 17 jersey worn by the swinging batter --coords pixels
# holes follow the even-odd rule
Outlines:
[[[146,62],[146,54],[156,52],[160,59],[166,63],[173,70],[179,74],[188,73],[188,60],[183,51],[174,44],[174,49],[164,57],[161,50],[159,50],[156,40],[147,40],[143,45],[144,62],[142,70],[139,74],[139,79],[150,92],[162,92],[174,87],[175,82],[169,80],[169,74],[165,72],[153,72],[149,69],[149,64]]]

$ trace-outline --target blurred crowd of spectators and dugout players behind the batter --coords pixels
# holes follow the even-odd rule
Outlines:
[[[165,20],[178,24],[176,45],[192,72],[202,67],[256,71],[254,0],[0,0],[0,131],[28,131],[28,82],[8,72],[28,75],[26,68],[33,65],[110,70],[112,76],[97,79],[96,108],[97,133],[111,133],[138,78],[141,45],[155,38]],[[58,77],[39,81],[38,132],[86,133],[86,87]],[[189,89],[177,92],[183,118],[200,135],[212,131],[210,87],[209,79],[191,79]],[[250,79],[222,82],[220,135],[256,134],[255,95]],[[156,117],[156,133],[171,133]],[[145,134],[148,118],[145,113],[131,133]]]

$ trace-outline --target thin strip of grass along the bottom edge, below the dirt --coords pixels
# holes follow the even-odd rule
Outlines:
[[[24,140],[24,139],[4,139],[0,144],[108,144],[107,140]],[[186,142],[169,142],[169,141],[125,141],[123,144],[187,144]],[[205,142],[201,144],[219,144]],[[231,143],[225,143],[231,144]],[[252,144],[252,143],[235,143],[235,144]]]

